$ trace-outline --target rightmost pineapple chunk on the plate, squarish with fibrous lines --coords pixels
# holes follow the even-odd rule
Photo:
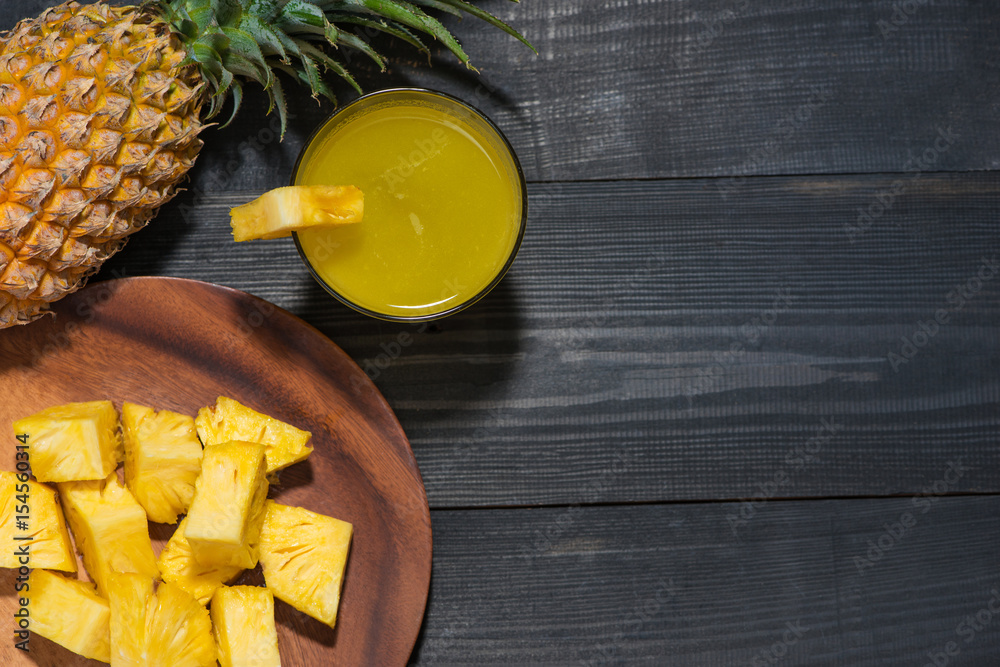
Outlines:
[[[260,566],[267,587],[332,628],[353,533],[346,521],[267,501],[260,532]]]

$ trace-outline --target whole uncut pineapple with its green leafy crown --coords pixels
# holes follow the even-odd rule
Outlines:
[[[276,70],[333,99],[324,46],[358,49],[348,28],[426,51],[455,38],[423,7],[466,12],[527,42],[464,0],[157,0],[76,2],[0,36],[0,328],[37,319],[78,289],[176,194],[201,149],[202,122],[242,81],[261,84],[285,125]],[[529,44],[530,46],[530,44]]]

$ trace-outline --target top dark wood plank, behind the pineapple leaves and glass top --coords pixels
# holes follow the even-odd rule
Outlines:
[[[0,28],[49,4],[6,0]],[[446,23],[479,75],[442,53],[429,68],[383,40],[375,44],[391,56],[386,75],[341,52],[367,90],[428,86],[482,107],[530,180],[718,176],[738,187],[754,174],[901,172],[948,128],[958,139],[936,169],[1000,165],[995,2],[481,4],[539,55],[471,18]],[[205,133],[194,186],[218,190],[220,174],[236,188],[287,181],[303,140],[333,108],[293,88],[284,144],[271,140],[263,95],[250,91],[233,126]]]

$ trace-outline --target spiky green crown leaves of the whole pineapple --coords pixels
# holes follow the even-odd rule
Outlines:
[[[513,0],[517,2],[518,0]],[[341,46],[365,54],[385,70],[385,59],[364,34],[385,33],[407,42],[430,57],[421,36],[429,36],[472,67],[458,40],[425,9],[462,16],[468,14],[535,48],[516,30],[466,0],[149,0],[181,40],[185,65],[197,66],[209,85],[208,118],[214,118],[232,97],[232,115],[243,99],[243,82],[254,81],[277,108],[281,134],[287,125],[287,105],[277,72],[309,86],[313,97],[336,97],[325,82],[333,72],[360,94],[361,87],[347,69],[326,51]],[[351,32],[353,28],[356,32]],[[537,51],[536,51],[537,53]]]

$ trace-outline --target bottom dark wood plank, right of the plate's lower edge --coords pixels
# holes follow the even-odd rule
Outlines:
[[[411,664],[998,664],[1000,499],[934,501],[434,512]]]

